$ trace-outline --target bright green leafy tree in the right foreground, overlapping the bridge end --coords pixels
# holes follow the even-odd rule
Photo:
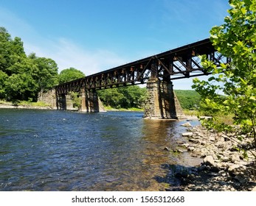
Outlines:
[[[234,124],[239,126],[235,128],[252,135],[256,148],[256,1],[230,0],[229,4],[229,16],[221,26],[212,27],[210,40],[217,51],[232,61],[217,68],[205,56],[201,57],[201,64],[213,76],[208,81],[194,79],[193,88],[201,94],[204,104],[219,113],[232,113]],[[214,120],[210,122],[212,127],[234,129]]]

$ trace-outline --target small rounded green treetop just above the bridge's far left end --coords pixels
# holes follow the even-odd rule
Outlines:
[[[60,71],[59,83],[70,82],[75,79],[80,79],[85,77],[82,71],[77,70],[76,68],[66,68],[63,71]]]

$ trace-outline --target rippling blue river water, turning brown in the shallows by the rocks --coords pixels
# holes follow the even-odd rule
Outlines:
[[[142,116],[1,109],[0,191],[164,191],[167,165],[196,160],[165,150],[183,121]]]

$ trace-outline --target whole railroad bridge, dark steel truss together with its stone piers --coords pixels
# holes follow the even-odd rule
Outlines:
[[[145,105],[145,117],[178,118],[173,80],[208,75],[198,57],[203,54],[206,54],[208,60],[212,60],[217,67],[221,63],[229,62],[229,58],[216,51],[207,38],[57,85],[55,86],[57,108],[69,107],[68,94],[73,91],[80,93],[82,97],[82,111],[99,112],[100,99],[97,90],[146,83],[148,101]]]

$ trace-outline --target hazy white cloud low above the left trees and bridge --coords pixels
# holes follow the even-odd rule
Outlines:
[[[24,43],[27,52],[35,52],[38,57],[49,57],[58,63],[59,71],[74,67],[84,74],[90,75],[108,68],[122,65],[125,60],[112,51],[106,49],[84,49],[71,40],[45,40],[46,46],[38,47]]]

